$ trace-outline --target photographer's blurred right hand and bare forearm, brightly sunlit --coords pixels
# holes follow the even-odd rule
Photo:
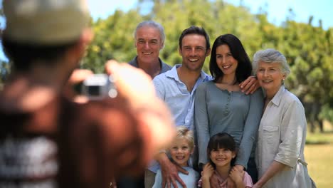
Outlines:
[[[169,108],[155,93],[152,78],[142,69],[116,61],[107,61],[105,71],[116,79],[118,93],[129,101],[139,120],[147,126],[145,130],[152,135],[154,151],[167,147],[176,133],[175,125]]]

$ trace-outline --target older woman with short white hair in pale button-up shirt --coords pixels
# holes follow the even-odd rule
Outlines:
[[[285,56],[274,49],[258,51],[253,68],[266,97],[255,153],[259,180],[253,187],[315,187],[304,157],[305,111],[284,85],[290,73]]]

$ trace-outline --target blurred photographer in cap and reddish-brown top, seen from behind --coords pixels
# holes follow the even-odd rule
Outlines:
[[[0,92],[0,187],[110,187],[169,145],[171,115],[143,71],[110,61],[115,98],[65,96],[68,78],[91,74],[70,77],[93,38],[86,1],[11,0],[3,9],[13,67]]]

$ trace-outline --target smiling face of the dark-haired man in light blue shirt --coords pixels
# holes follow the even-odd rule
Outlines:
[[[210,49],[206,48],[206,38],[199,34],[184,36],[179,48],[179,54],[183,58],[183,66],[189,71],[201,71],[206,56]]]

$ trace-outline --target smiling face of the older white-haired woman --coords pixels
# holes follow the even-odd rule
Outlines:
[[[282,73],[280,63],[258,63],[257,77],[259,84],[265,89],[268,98],[273,98],[275,93],[280,89],[282,80],[285,79],[285,73]]]

